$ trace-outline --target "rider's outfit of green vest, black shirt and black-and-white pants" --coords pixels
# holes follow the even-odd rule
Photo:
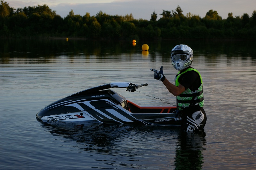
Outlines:
[[[203,81],[200,73],[188,67],[175,77],[175,85],[185,87],[185,91],[177,96],[177,109],[181,114],[181,128],[185,131],[204,130],[206,114],[203,109]]]

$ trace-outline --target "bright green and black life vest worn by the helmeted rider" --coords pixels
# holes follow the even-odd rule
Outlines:
[[[195,71],[200,76],[201,85],[196,91],[192,91],[191,89],[186,89],[183,93],[176,97],[177,99],[177,109],[183,110],[185,108],[193,108],[195,105],[199,104],[200,108],[204,106],[204,95],[203,95],[203,80],[200,73],[194,68],[188,68],[182,73],[178,73],[175,76],[175,86],[179,86],[179,77],[180,75],[187,73],[188,71]]]

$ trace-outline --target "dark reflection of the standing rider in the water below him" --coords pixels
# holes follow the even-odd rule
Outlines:
[[[176,169],[202,169],[205,132],[200,134],[183,132],[179,136],[174,165]]]

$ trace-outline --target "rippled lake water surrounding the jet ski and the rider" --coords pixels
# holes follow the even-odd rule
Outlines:
[[[148,44],[148,54],[141,46]],[[44,106],[94,86],[143,105],[175,104],[150,68],[174,82],[170,52],[188,44],[203,77],[204,134],[179,127],[41,123]],[[0,169],[256,169],[256,41],[126,41],[1,39]],[[167,104],[168,105],[168,104]]]

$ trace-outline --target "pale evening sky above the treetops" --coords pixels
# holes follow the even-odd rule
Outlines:
[[[96,15],[99,11],[109,15],[133,15],[134,19],[150,20],[151,14],[157,14],[157,20],[164,11],[175,11],[179,5],[183,14],[199,15],[201,18],[209,10],[217,11],[222,19],[233,16],[242,16],[247,13],[250,17],[256,10],[256,0],[4,0],[10,7],[24,8],[46,4],[56,14],[65,18],[71,10],[75,15],[84,16],[86,12],[90,16]]]

